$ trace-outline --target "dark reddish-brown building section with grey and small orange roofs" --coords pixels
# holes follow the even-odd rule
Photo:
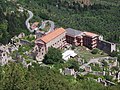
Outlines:
[[[72,28],[66,29],[66,41],[75,46],[86,46],[89,49],[97,47],[98,35],[91,32],[81,32]]]

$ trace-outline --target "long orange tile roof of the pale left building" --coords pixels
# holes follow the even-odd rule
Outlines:
[[[38,38],[37,40],[42,40],[45,43],[48,43],[48,42],[50,42],[51,40],[58,37],[59,35],[61,35],[64,32],[66,32],[66,30],[64,28],[58,28],[58,29],[55,29],[54,31],[48,33],[47,35],[45,35],[41,38]]]

